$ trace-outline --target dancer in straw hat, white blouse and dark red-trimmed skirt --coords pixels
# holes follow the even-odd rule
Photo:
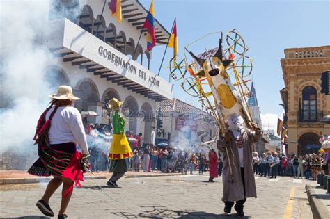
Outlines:
[[[88,168],[88,145],[81,115],[77,108],[72,106],[74,97],[70,86],[59,86],[50,106],[38,120],[36,140],[39,159],[29,169],[31,175],[54,176],[49,181],[45,194],[37,202],[37,206],[46,216],[53,217],[54,213],[49,206],[49,199],[63,184],[61,209],[58,218],[67,218],[65,214],[72,195],[73,184],[81,186],[84,181],[83,172]],[[76,143],[82,154],[77,151]]]

